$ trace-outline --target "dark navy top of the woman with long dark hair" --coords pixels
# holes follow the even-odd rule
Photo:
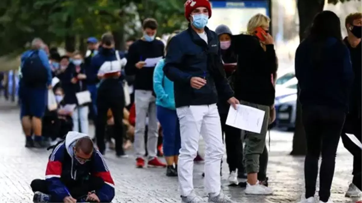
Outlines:
[[[353,70],[348,48],[336,38],[305,39],[295,52],[295,76],[303,106],[348,111]]]

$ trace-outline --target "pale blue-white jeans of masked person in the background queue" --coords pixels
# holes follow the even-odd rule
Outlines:
[[[88,112],[89,112],[88,106],[77,107],[74,109],[72,114],[73,131],[88,135],[89,131]],[[81,131],[79,131],[79,122],[80,122]]]

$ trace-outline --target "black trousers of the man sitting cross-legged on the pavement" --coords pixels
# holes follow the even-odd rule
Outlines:
[[[88,181],[84,182],[84,184],[77,187],[67,187],[69,193],[75,199],[81,199],[88,195],[88,192],[99,190],[104,185],[104,181],[100,177],[91,176]],[[31,190],[33,192],[41,192],[44,194],[49,194],[49,181],[35,179],[30,183]],[[52,199],[51,202],[58,203]],[[63,202],[63,201],[61,201]]]

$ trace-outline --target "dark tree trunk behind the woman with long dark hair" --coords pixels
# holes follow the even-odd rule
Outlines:
[[[307,29],[313,22],[313,18],[317,13],[321,12],[324,7],[324,0],[298,0],[299,14],[299,38],[302,41],[307,34]],[[298,88],[299,97],[299,88]],[[302,124],[302,112],[300,108],[299,98],[297,100],[295,131],[293,136],[293,148],[291,155],[306,155],[306,134]]]

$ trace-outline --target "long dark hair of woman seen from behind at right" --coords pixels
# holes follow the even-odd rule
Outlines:
[[[324,10],[318,13],[313,20],[306,39],[311,40],[311,61],[318,68],[323,64],[325,57],[326,40],[334,38],[337,44],[343,44],[341,33],[341,21],[336,13],[330,10]]]

